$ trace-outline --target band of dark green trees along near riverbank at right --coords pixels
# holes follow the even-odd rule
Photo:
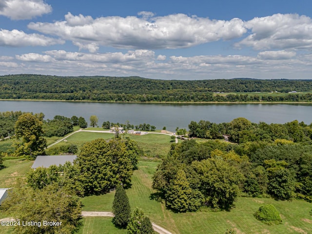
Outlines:
[[[256,124],[243,117],[235,118],[230,123],[219,124],[200,120],[198,123],[191,121],[189,129],[190,137],[222,139],[225,135],[230,141],[236,143],[277,140],[276,144],[279,144],[280,139],[312,143],[312,125],[308,126],[297,120],[285,124],[264,122]]]

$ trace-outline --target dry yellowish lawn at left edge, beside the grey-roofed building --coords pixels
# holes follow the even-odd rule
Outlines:
[[[33,163],[26,159],[4,160],[4,168],[0,170],[0,188],[14,187],[16,178],[25,177]]]

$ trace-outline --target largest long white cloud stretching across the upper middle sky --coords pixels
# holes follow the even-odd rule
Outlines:
[[[65,21],[30,23],[28,27],[41,33],[71,40],[80,49],[112,46],[128,49],[175,49],[191,47],[220,39],[234,39],[246,33],[240,19],[210,20],[184,14],[143,18],[129,16],[92,19],[68,13]],[[144,16],[149,16],[146,18]],[[93,46],[89,47],[90,44]]]

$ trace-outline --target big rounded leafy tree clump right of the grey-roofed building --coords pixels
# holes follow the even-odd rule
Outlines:
[[[129,184],[139,155],[136,142],[128,138],[85,143],[78,155],[85,195],[104,194],[118,183]]]

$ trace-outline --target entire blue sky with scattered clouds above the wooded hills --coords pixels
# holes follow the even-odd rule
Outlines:
[[[0,75],[312,79],[311,0],[0,0]]]

